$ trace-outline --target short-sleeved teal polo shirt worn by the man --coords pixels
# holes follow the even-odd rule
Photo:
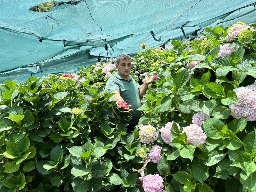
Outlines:
[[[141,117],[141,111],[136,110],[141,106],[139,99],[139,85],[135,82],[132,76],[129,75],[129,81],[127,81],[126,79],[121,78],[118,73],[115,73],[108,79],[106,89],[109,93],[118,91],[124,101],[128,105],[131,105],[130,108],[133,109],[133,119],[124,123],[138,123],[139,118]]]

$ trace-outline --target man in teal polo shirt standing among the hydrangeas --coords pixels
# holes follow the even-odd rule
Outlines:
[[[113,97],[115,97],[116,102],[125,101],[129,105],[129,108],[133,109],[132,120],[124,122],[129,124],[128,131],[131,131],[139,122],[141,111],[136,109],[141,106],[140,100],[145,95],[148,85],[152,83],[152,79],[148,75],[145,78],[143,86],[139,89],[135,80],[130,75],[131,57],[127,54],[117,57],[116,67],[118,72],[108,79],[106,89],[110,93],[115,93]]]

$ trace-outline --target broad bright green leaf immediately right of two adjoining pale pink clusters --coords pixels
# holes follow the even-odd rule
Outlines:
[[[213,139],[222,138],[220,131],[222,130],[224,123],[221,120],[215,118],[208,118],[203,120],[202,122],[203,130],[208,137],[211,137]]]

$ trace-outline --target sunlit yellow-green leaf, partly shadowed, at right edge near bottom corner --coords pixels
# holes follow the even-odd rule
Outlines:
[[[250,173],[256,171],[256,165],[252,161],[252,156],[249,153],[244,153],[243,155],[237,157],[237,159],[230,166],[239,167]]]

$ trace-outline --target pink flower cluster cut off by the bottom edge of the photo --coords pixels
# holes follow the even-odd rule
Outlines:
[[[145,192],[165,192],[163,178],[159,174],[149,174],[143,177],[142,187]]]

